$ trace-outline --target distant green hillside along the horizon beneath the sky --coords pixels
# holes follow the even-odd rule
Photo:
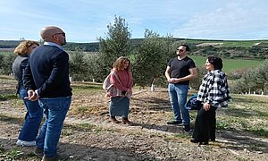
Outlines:
[[[139,47],[144,38],[130,39],[130,46],[134,50]],[[268,40],[209,40],[209,39],[188,39],[173,38],[176,44],[188,44],[191,54],[206,56],[218,55],[223,58],[233,59],[267,59],[268,58]],[[7,49],[13,49],[21,41],[0,40],[0,52],[6,52]],[[64,49],[75,51],[79,49],[84,52],[98,52],[99,42],[75,43],[68,42]],[[175,50],[175,49],[174,49]],[[13,50],[9,50],[13,51]]]

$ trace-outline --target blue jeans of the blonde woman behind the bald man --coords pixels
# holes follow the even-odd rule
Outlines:
[[[21,128],[18,140],[33,141],[38,136],[38,129],[43,118],[43,109],[39,106],[38,101],[29,101],[24,99],[28,97],[27,90],[21,87],[19,95],[26,106],[25,122]]]

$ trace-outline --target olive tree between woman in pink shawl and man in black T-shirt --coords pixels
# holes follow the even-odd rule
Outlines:
[[[152,30],[145,31],[145,38],[135,55],[133,75],[138,85],[149,86],[164,75],[172,38],[161,38]]]

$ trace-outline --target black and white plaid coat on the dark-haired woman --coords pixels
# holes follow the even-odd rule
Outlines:
[[[228,107],[230,89],[221,70],[207,72],[197,93],[197,100],[214,107]]]

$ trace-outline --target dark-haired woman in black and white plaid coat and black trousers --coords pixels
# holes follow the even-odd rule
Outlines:
[[[220,57],[209,56],[205,62],[208,72],[197,93],[197,100],[202,102],[203,107],[198,110],[193,140],[190,140],[199,145],[215,140],[215,111],[218,107],[227,107],[230,100],[230,89],[222,67]]]

